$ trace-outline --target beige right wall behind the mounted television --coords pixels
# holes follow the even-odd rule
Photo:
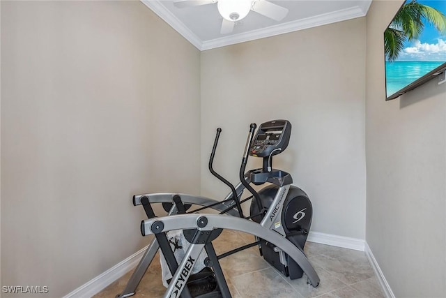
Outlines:
[[[396,297],[444,297],[446,84],[385,102],[383,31],[402,3],[367,15],[367,244]]]

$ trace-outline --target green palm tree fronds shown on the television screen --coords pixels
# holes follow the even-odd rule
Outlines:
[[[446,34],[446,16],[436,8],[418,3],[417,0],[405,3],[390,26],[384,32],[385,57],[388,61],[395,61],[404,42],[417,39],[429,23],[440,32]]]

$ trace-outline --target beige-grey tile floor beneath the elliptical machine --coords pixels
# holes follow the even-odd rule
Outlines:
[[[254,241],[252,235],[224,230],[213,243],[219,254],[251,241]],[[307,242],[305,253],[321,278],[317,288],[307,285],[305,275],[293,281],[282,276],[259,256],[256,247],[224,258],[220,260],[220,265],[233,298],[384,297],[364,252]],[[125,274],[94,298],[116,297],[125,288],[131,274],[132,271]],[[133,297],[162,297],[164,291],[159,257],[156,255]]]

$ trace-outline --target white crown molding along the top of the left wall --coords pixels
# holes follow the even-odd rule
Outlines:
[[[144,3],[145,6],[150,8],[153,13],[155,13],[158,17],[161,17],[164,22],[167,22],[167,24],[170,25],[170,27],[174,28],[178,33],[180,33],[181,36],[186,38],[192,45],[197,47],[198,50],[201,50],[201,46],[203,44],[203,41],[200,40],[200,38],[192,31],[190,31],[189,28],[183,24],[178,18],[171,13],[169,10],[167,10],[160,1],[153,1],[153,0],[140,0],[142,3]]]

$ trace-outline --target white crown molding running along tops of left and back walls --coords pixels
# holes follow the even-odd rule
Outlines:
[[[314,17],[307,17],[305,19],[296,20],[276,26],[257,29],[236,35],[225,36],[222,38],[215,38],[213,40],[201,40],[196,34],[188,29],[183,22],[165,8],[159,0],[140,0],[144,5],[153,10],[153,12],[167,22],[173,29],[175,29],[181,36],[189,40],[192,45],[198,50],[211,50],[217,47],[224,47],[226,45],[234,45],[236,43],[245,43],[246,41],[256,40],[260,38],[267,38],[279,34],[290,33],[303,29],[309,29],[335,22],[352,20],[357,17],[364,17],[367,15],[371,0],[360,1],[359,6],[352,8],[337,10],[332,13],[325,13],[323,15],[316,15]]]

